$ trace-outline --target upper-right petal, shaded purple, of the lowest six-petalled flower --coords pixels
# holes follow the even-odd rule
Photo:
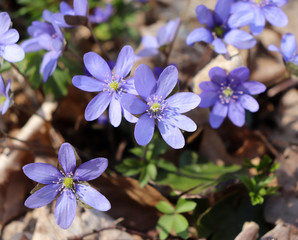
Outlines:
[[[81,164],[74,173],[77,181],[90,181],[98,178],[108,167],[106,158],[94,158]]]

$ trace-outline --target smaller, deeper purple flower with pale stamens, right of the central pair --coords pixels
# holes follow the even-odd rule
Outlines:
[[[250,95],[262,93],[266,90],[264,84],[256,81],[247,81],[249,70],[239,67],[228,75],[224,69],[214,67],[209,71],[211,81],[200,83],[203,92],[200,107],[213,106],[209,115],[211,127],[218,128],[225,117],[238,127],[245,123],[245,109],[256,112],[259,110],[258,102]]]

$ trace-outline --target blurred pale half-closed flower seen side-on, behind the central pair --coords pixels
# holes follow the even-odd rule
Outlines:
[[[179,24],[180,18],[171,20],[159,29],[157,37],[144,36],[142,38],[144,48],[137,54],[137,57],[150,57],[158,54],[160,48],[165,47],[174,40]]]

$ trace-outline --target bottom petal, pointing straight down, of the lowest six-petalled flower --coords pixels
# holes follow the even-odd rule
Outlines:
[[[64,189],[57,199],[55,207],[55,218],[57,224],[67,229],[76,216],[77,200],[70,189]]]

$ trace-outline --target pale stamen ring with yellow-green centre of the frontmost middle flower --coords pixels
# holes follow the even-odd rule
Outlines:
[[[165,111],[167,110],[167,102],[162,99],[162,96],[153,96],[148,99],[147,105],[149,109],[146,110],[150,118],[155,118],[160,121],[165,116]]]

